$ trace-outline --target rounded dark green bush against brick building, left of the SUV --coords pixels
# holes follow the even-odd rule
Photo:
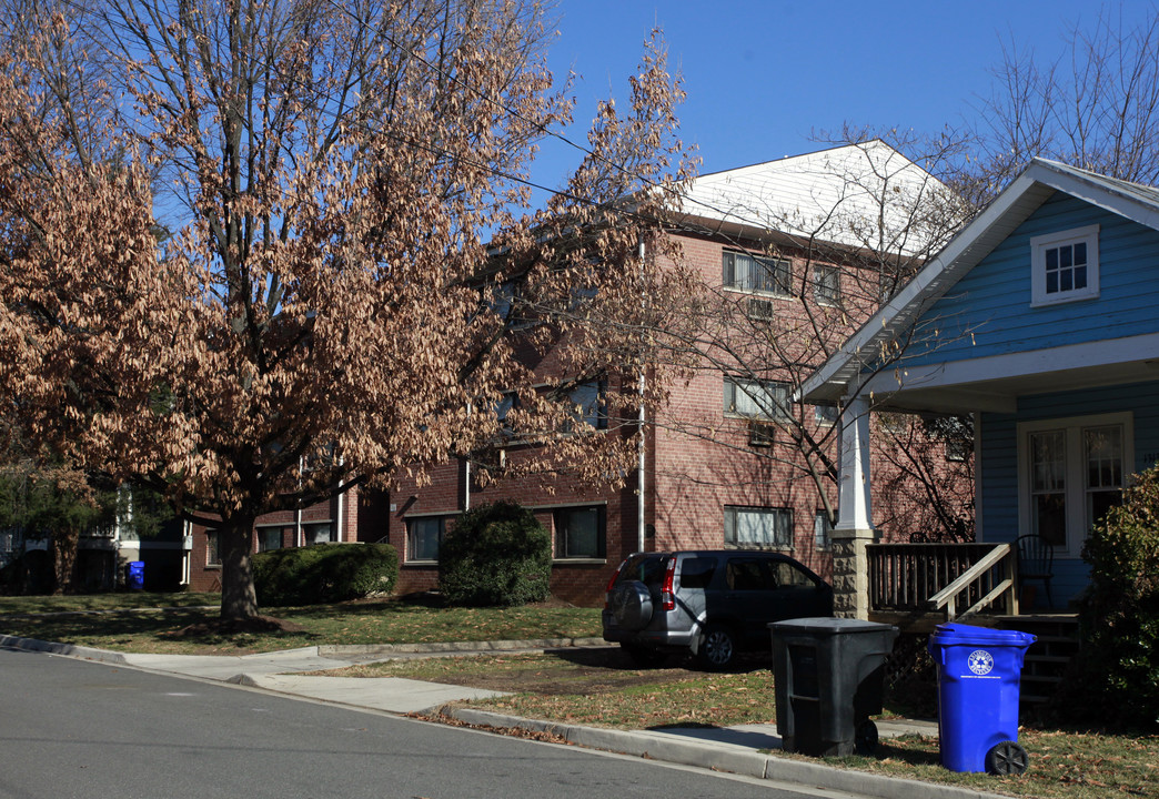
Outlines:
[[[551,595],[552,536],[515,503],[464,513],[439,544],[439,589],[450,604],[516,606]]]

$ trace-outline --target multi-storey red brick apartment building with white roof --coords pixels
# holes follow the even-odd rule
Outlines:
[[[437,585],[438,545],[454,518],[483,503],[515,500],[552,533],[553,594],[578,604],[600,602],[617,565],[639,550],[763,547],[828,574],[822,491],[832,507],[837,490],[824,477],[818,489],[802,453],[811,450],[815,464],[836,459],[839,437],[832,409],[790,399],[826,354],[816,347],[818,336],[839,343],[868,316],[882,298],[882,278],[897,276],[881,270],[883,258],[859,254],[876,242],[902,261],[920,259],[911,244],[882,239],[877,222],[901,229],[913,218],[906,203],[925,201],[924,195],[938,189],[928,174],[880,141],[697,178],[668,235],[677,237],[684,263],[702,278],[714,298],[715,328],[726,333],[702,344],[705,357],[694,374],[673,386],[666,408],[643,409],[643,446],[622,485],[592,488],[560,475],[489,482],[465,459],[429,464],[423,479],[398,477],[389,492],[350,491],[299,512],[263,516],[255,548],[388,542],[401,563],[398,591],[425,591]],[[866,220],[876,239],[865,235]],[[897,235],[909,242],[916,236],[912,229]],[[761,354],[766,351],[775,352]],[[633,386],[624,376],[593,386],[591,396],[580,399],[591,411],[584,422],[604,426],[599,391]],[[603,434],[629,435],[636,425],[628,422]],[[501,456],[515,463],[530,454],[530,445],[513,440]],[[896,490],[905,478],[894,469],[890,479],[891,468],[889,459],[875,463],[877,485],[894,486],[875,497],[875,522],[884,537],[907,540],[914,523],[923,523],[925,498]],[[189,527],[184,541],[181,581],[219,588],[213,532]]]

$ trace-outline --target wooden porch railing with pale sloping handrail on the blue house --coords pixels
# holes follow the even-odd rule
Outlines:
[[[1016,614],[1009,544],[869,544],[869,613]]]

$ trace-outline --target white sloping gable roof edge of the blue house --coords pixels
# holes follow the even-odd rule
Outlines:
[[[1159,190],[1057,161],[1035,159],[841,349],[801,387],[807,402],[836,402],[848,393],[882,347],[904,332],[950,287],[1034,213],[1062,191],[1140,225],[1159,229]]]

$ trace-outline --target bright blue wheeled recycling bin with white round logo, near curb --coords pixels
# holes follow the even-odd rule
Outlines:
[[[950,771],[1022,774],[1018,742],[1022,660],[1037,638],[1016,630],[940,624],[928,650],[938,666],[938,735]]]

